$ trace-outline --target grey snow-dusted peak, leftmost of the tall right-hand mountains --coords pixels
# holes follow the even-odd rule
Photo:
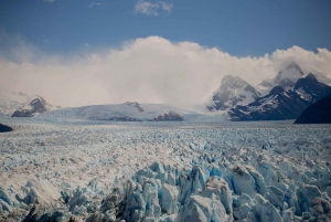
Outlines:
[[[206,107],[209,110],[225,110],[236,105],[249,104],[259,96],[260,93],[243,78],[225,75]]]

